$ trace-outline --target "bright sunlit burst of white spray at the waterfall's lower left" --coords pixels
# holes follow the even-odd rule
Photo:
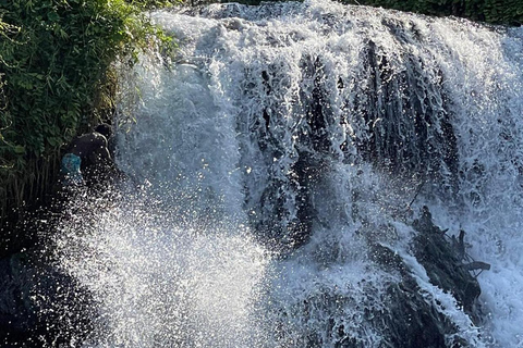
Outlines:
[[[58,250],[97,306],[83,346],[260,345],[253,313],[269,257],[244,226],[188,226],[131,192],[105,209],[80,206],[63,222]]]

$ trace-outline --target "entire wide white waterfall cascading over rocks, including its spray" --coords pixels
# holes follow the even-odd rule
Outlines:
[[[153,16],[179,50],[122,73],[136,185],[56,240],[85,346],[523,347],[521,28],[328,1]],[[491,264],[477,300],[415,250],[422,206]]]

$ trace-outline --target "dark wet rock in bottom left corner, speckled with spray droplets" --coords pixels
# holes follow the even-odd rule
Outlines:
[[[88,291],[39,262],[29,251],[0,260],[0,347],[75,347],[93,332]]]

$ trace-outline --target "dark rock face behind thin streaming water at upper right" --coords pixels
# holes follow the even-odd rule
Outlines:
[[[398,24],[384,24],[400,41],[412,40]],[[458,146],[442,72],[410,53],[402,53],[405,69],[398,70],[373,39],[361,54],[365,73],[356,80],[363,90],[352,112],[367,125],[368,136],[357,138],[358,152],[392,173],[424,173],[455,189]]]

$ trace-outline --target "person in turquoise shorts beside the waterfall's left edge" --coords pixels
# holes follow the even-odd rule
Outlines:
[[[93,186],[107,178],[113,166],[108,138],[112,129],[107,124],[98,125],[94,132],[74,138],[65,150],[61,162],[63,186]]]

